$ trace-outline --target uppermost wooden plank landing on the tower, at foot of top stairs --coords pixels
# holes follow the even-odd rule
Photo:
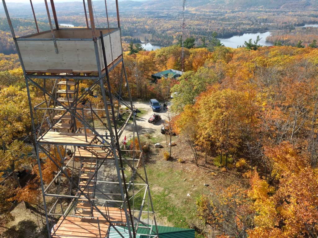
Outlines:
[[[89,145],[96,138],[94,134],[48,131],[40,143]],[[86,141],[87,139],[87,141]]]

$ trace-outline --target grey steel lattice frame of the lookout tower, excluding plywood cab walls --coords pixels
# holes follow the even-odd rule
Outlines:
[[[86,225],[88,226],[89,224],[92,229],[89,233],[85,233],[83,237],[109,237],[110,229],[122,238],[135,238],[138,235],[157,237],[158,229],[156,225],[156,217],[151,200],[140,136],[137,130],[135,117],[133,116],[134,106],[129,90],[129,83],[122,52],[121,56],[115,59],[113,57],[112,44],[114,44],[114,42],[111,40],[112,34],[113,32],[119,31],[121,36],[118,1],[116,0],[118,27],[110,28],[107,3],[105,0],[108,26],[105,29],[95,27],[92,0],[87,0],[89,11],[88,21],[86,2],[83,0],[87,30],[90,30],[93,36],[89,42],[93,41],[93,54],[96,56],[96,72],[77,72],[65,69],[48,69],[40,71],[28,70],[24,65],[26,62],[25,55],[23,55],[20,51],[20,41],[25,41],[26,44],[31,44],[39,40],[38,38],[43,33],[39,31],[32,1],[30,0],[30,3],[37,33],[27,37],[15,36],[5,0],[2,0],[2,2],[25,77],[35,142],[35,152],[38,160],[41,189],[43,194],[45,219],[49,237],[68,237],[67,234],[70,234],[68,233],[70,232],[68,229],[73,229],[72,225],[77,229],[79,223],[83,225],[83,227],[86,227]],[[49,40],[54,44],[55,53],[61,54],[63,53],[63,49],[59,49],[59,41],[63,42],[63,40],[70,40],[69,38],[71,37],[68,39],[59,39],[56,37],[55,31],[63,29],[59,29],[54,1],[50,0],[50,5],[55,28],[53,28],[53,24],[51,22],[49,4],[47,3],[47,0],[44,0],[44,2],[51,29],[44,33],[52,33],[52,38]],[[76,30],[79,29],[74,29],[74,32]],[[98,30],[100,31],[100,36],[96,34]],[[108,33],[105,34],[105,31]],[[36,36],[39,37],[37,38]],[[108,42],[104,42],[105,37],[109,38],[109,44]],[[45,38],[40,40],[47,41],[48,39]],[[87,38],[76,40],[88,42]],[[106,44],[107,47],[105,47]],[[109,45],[110,48],[108,47]],[[122,49],[121,38],[120,48]],[[107,64],[107,53],[109,53],[109,51],[111,52],[111,63]],[[43,49],[43,54],[45,54],[45,49]],[[111,86],[109,76],[109,72],[111,72],[115,67],[121,67],[120,90],[118,92],[116,92]],[[81,80],[89,80],[91,85],[82,95],[79,95],[79,83]],[[124,83],[125,87],[122,87]],[[48,87],[49,84],[52,87]],[[37,105],[33,104],[31,100],[30,86],[41,90],[44,98],[43,102]],[[71,87],[73,87],[73,89],[71,89]],[[101,90],[103,109],[93,108],[90,101],[85,103],[88,96],[98,87]],[[128,93],[129,102],[126,102],[122,98],[122,94],[125,89]],[[65,95],[65,98],[60,98],[59,95]],[[115,105],[116,102],[117,106]],[[126,106],[128,109],[121,110],[121,104]],[[57,114],[59,111],[62,111],[61,115]],[[128,118],[119,127],[117,122],[118,114],[123,111],[128,113]],[[106,122],[99,116],[99,113],[106,115]],[[116,113],[117,118],[115,116]],[[124,130],[131,118],[133,119],[134,128],[133,149],[122,150],[120,139],[124,135]],[[63,121],[67,121],[69,124],[59,123]],[[103,127],[95,127],[94,121],[98,121],[103,125]],[[114,123],[114,125],[112,123]],[[67,132],[63,130],[66,130]],[[101,130],[105,130],[106,135],[103,135]],[[139,150],[135,149],[135,137],[138,140],[137,146],[139,146]],[[71,151],[71,154],[73,154],[72,157],[68,158],[66,156],[66,150]],[[132,153],[132,158],[123,156],[125,152],[127,154],[128,152]],[[139,155],[138,158],[136,158],[137,154]],[[53,180],[49,183],[45,183],[43,181],[43,161],[41,155],[45,155],[45,157],[54,163],[58,169]],[[76,167],[78,159],[80,161],[80,168]],[[113,169],[116,171],[117,181],[98,180],[103,176],[103,174],[101,174],[102,169],[108,167],[107,161],[110,160],[114,161]],[[87,165],[89,166],[87,167]],[[144,175],[137,171],[139,167],[143,168],[142,173]],[[128,176],[130,176],[128,183],[126,182],[127,175],[125,176],[124,173],[126,169],[131,170],[131,172],[128,173]],[[84,174],[83,172],[87,172],[87,174]],[[81,180],[81,177],[85,178]],[[67,183],[62,182],[63,178],[66,178]],[[135,178],[141,181],[141,183],[135,183]],[[76,182],[75,179],[78,179],[78,182]],[[58,180],[58,182],[56,182],[56,180]],[[52,186],[55,182],[57,183],[56,188]],[[65,189],[66,184],[69,185],[67,189]],[[119,190],[119,193],[107,193],[106,190],[102,191],[102,188],[98,187],[98,184],[116,184],[116,186],[118,186],[116,188]],[[135,189],[138,192],[135,193]],[[136,196],[139,196],[142,191],[142,200],[140,202],[141,206],[139,210],[135,210],[134,199]],[[101,197],[103,199],[101,199]],[[50,200],[52,200],[52,198],[56,199],[54,203],[50,204],[52,205],[50,207],[46,202],[48,198],[50,198]],[[148,204],[146,206],[145,203],[147,199]],[[130,202],[131,200],[132,204]],[[100,202],[102,202],[101,205]],[[133,205],[133,207],[131,207],[131,205]],[[148,211],[144,210],[145,207]],[[135,216],[135,212],[138,216]],[[148,222],[141,221],[143,212],[146,212]],[[153,216],[154,225],[149,224],[149,214]],[[67,223],[68,226],[66,226],[65,229],[62,229],[64,228],[63,224],[66,224],[66,221],[70,222]],[[125,233],[122,232],[122,228],[119,226],[125,227]],[[147,234],[139,234],[138,228],[147,228]],[[74,231],[72,234],[75,234],[76,232]],[[72,234],[69,237],[71,237]],[[87,236],[87,234],[92,236]]]

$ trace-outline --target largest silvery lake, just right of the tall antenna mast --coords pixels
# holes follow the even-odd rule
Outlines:
[[[226,47],[237,48],[238,45],[244,45],[244,41],[249,41],[252,38],[252,42],[256,40],[257,36],[260,36],[261,40],[259,41],[260,45],[272,46],[273,43],[266,42],[266,37],[271,34],[270,31],[266,32],[251,32],[245,33],[242,36],[232,36],[231,38],[222,39],[219,38],[221,43],[223,43]]]

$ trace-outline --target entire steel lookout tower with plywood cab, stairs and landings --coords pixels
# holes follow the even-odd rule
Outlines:
[[[83,0],[86,27],[60,28],[54,0],[44,0],[50,30],[41,32],[30,0],[37,33],[20,37],[2,1],[29,97],[49,237],[157,237],[123,62],[118,1],[116,28],[109,27],[106,0],[107,28],[96,27],[92,0]],[[115,67],[121,72],[116,90],[109,75]],[[82,82],[89,88],[81,90]],[[41,102],[31,100],[30,87],[41,92]],[[90,99],[96,89],[101,108]],[[128,117],[119,123],[119,114]],[[128,124],[133,146],[123,149]],[[43,157],[58,168],[51,182],[43,181]]]

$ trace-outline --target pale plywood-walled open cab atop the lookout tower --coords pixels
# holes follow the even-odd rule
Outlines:
[[[122,59],[121,37],[117,29],[102,31],[107,65]],[[105,69],[100,36],[97,37],[98,56],[95,53],[92,30],[69,28],[22,36],[17,44],[27,74],[33,73],[98,73],[98,64]],[[58,52],[58,53],[56,53]]]

